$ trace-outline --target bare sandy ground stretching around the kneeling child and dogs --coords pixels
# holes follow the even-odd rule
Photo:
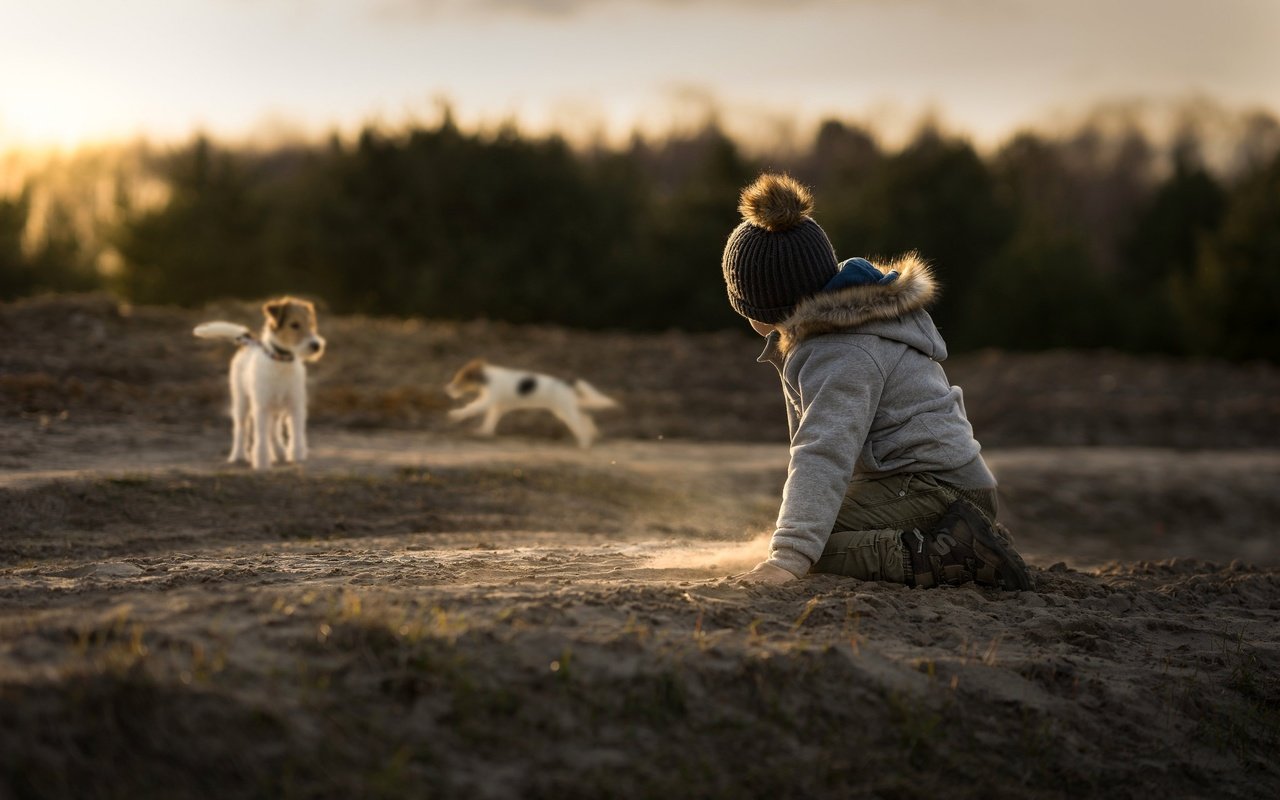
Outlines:
[[[1280,451],[1188,449],[1181,401],[1164,438],[1098,403],[1076,430],[1106,447],[1047,425],[988,448],[1036,591],[744,588],[785,444],[654,434],[672,375],[637,410],[620,380],[632,420],[579,451],[535,420],[451,430],[435,387],[366,374],[305,467],[252,474],[221,462],[215,358],[137,355],[189,315],[74,302],[124,335],[0,356],[0,799],[1280,792]],[[32,308],[0,332],[65,311]],[[1270,370],[1215,370],[1201,428],[1271,419],[1242,389]],[[93,390],[67,402],[73,378]]]

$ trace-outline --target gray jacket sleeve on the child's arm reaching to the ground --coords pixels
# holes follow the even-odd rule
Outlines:
[[[799,424],[769,562],[801,576],[822,556],[879,404],[884,376],[850,342],[814,342],[788,358]]]

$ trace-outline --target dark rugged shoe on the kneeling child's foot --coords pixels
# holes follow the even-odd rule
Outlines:
[[[911,571],[908,582],[923,589],[973,581],[979,586],[1030,590],[1027,564],[1007,531],[997,529],[969,503],[956,500],[927,532],[904,531]]]

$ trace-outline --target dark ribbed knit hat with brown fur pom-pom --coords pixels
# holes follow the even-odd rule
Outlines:
[[[724,244],[728,302],[758,323],[781,323],[838,273],[831,241],[809,214],[813,196],[790,175],[763,174],[742,189],[742,223]]]

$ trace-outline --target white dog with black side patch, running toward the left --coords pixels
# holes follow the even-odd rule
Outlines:
[[[449,412],[454,422],[484,413],[477,433],[492,436],[498,430],[498,420],[517,408],[550,411],[568,426],[579,447],[590,447],[596,436],[595,421],[588,411],[614,408],[617,403],[585,380],[568,384],[559,378],[524,370],[508,370],[475,358],[453,376],[444,390],[457,399],[471,392],[479,397]]]

